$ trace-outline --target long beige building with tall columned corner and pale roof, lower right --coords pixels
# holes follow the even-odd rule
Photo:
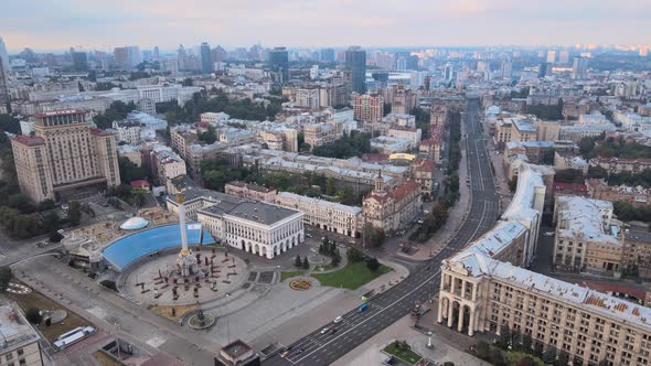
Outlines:
[[[542,181],[542,171],[527,170],[537,175],[533,181]],[[511,214],[538,211],[532,198],[537,187],[522,173]],[[531,336],[534,348],[567,353],[574,365],[649,365],[651,309],[522,268],[533,259],[530,237],[537,236],[523,217],[503,215],[493,229],[442,261],[438,323],[469,336],[499,335],[506,327]]]

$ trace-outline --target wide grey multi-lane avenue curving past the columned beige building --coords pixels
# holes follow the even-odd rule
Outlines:
[[[275,355],[266,359],[264,365],[329,365],[408,314],[416,302],[424,303],[438,292],[441,260],[489,230],[499,215],[499,201],[483,131],[478,123],[478,100],[470,99],[461,119],[466,127],[462,143],[468,160],[471,205],[461,228],[448,246],[427,262],[417,266],[404,281],[372,298],[367,302],[369,310],[359,313],[357,309],[353,309],[342,315],[341,322],[323,324],[321,329],[291,344],[286,357]],[[322,332],[324,327],[337,331]]]

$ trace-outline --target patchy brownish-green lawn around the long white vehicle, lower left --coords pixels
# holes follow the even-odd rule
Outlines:
[[[43,324],[39,325],[39,331],[41,331],[43,336],[50,342],[56,341],[60,335],[72,331],[75,327],[90,325],[90,322],[73,313],[70,309],[50,300],[40,292],[36,292],[34,289],[32,289],[32,292],[28,294],[18,294],[11,292],[6,292],[4,294],[11,300],[15,301],[23,312],[26,312],[30,308],[38,308],[39,310],[63,309],[67,312],[67,316],[62,322],[52,323],[50,326],[45,326],[44,322]]]

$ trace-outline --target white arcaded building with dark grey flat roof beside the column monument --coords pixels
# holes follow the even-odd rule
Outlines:
[[[189,219],[200,222],[224,245],[273,259],[305,241],[303,214],[273,204],[202,189],[183,191]],[[177,195],[168,209],[178,214]]]

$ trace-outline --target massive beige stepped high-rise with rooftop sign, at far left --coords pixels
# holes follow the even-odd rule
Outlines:
[[[120,184],[115,134],[90,128],[86,112],[35,116],[34,136],[11,140],[21,192],[34,202],[67,201]]]

